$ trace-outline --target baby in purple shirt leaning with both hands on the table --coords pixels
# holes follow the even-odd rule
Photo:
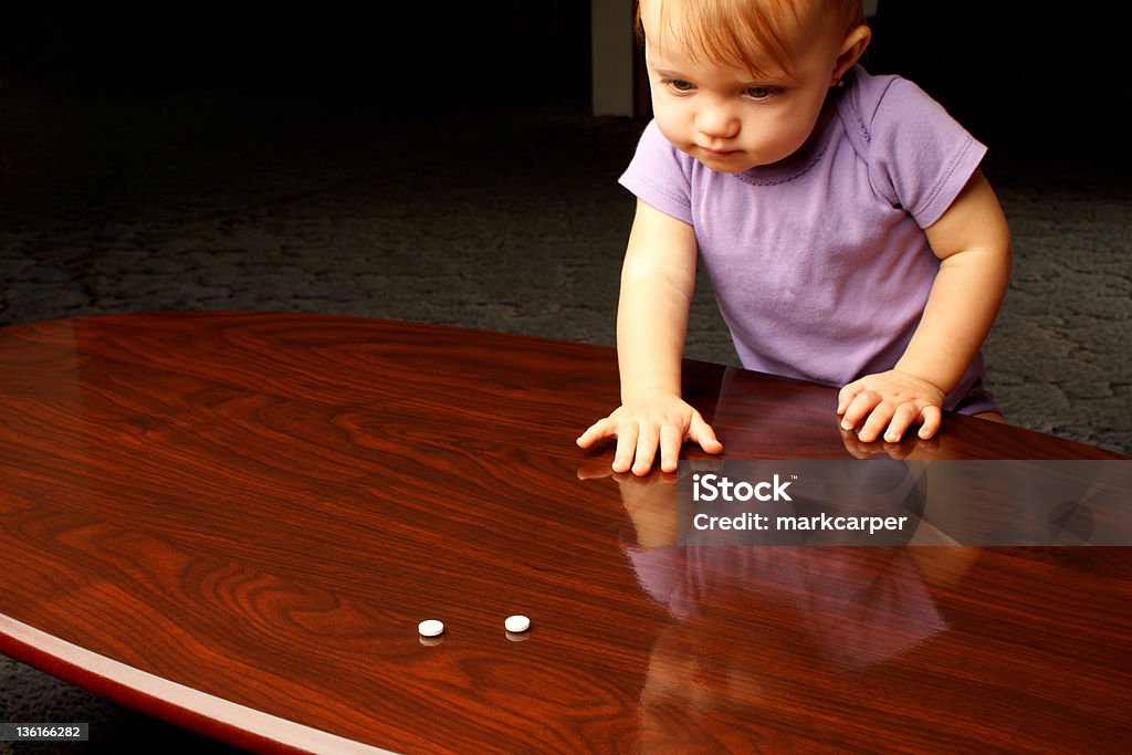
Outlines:
[[[1001,420],[983,342],[1010,277],[986,148],[935,101],[858,59],[849,0],[641,0],[654,120],[621,185],[621,405],[578,438],[612,467],[676,470],[722,445],[680,394],[696,256],[743,366],[840,386],[841,427],[927,439],[953,410]]]

